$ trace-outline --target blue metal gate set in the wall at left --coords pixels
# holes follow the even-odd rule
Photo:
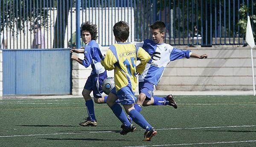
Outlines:
[[[71,94],[70,49],[4,49],[3,96]]]

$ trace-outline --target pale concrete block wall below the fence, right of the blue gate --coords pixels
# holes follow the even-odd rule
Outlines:
[[[178,49],[190,49],[202,55],[208,54],[207,59],[183,58],[172,61],[167,66],[158,90],[166,91],[204,91],[204,90],[251,90],[252,69],[249,47],[190,47],[175,46]],[[108,47],[105,47],[105,50]],[[253,51],[256,55],[256,51]],[[83,55],[80,54],[80,58]],[[255,58],[254,58],[254,65]],[[85,69],[73,61],[72,82],[73,95],[81,95],[90,68]],[[108,72],[113,76],[113,71]]]

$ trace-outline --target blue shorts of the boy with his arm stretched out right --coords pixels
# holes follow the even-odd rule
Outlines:
[[[145,100],[151,100],[151,97],[154,95],[154,89],[156,86],[148,82],[139,82],[139,93],[144,93],[146,95]]]

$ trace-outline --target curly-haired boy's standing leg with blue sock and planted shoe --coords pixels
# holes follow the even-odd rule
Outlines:
[[[85,106],[87,108],[88,117],[84,118],[85,119],[84,122],[79,123],[80,126],[97,126],[97,121],[94,113],[93,100],[90,96],[91,92],[92,90],[87,90],[87,89],[84,89],[82,92],[82,95],[85,100]]]

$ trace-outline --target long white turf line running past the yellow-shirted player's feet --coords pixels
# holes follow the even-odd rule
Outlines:
[[[193,128],[167,128],[167,129],[157,129],[157,130],[184,130],[184,129],[208,129],[208,128],[230,128],[230,127],[256,127],[256,125],[250,126],[222,126],[222,127],[193,127]],[[20,136],[40,136],[40,135],[63,135],[63,134],[83,134],[83,133],[111,133],[113,131],[96,131],[96,132],[81,132],[81,133],[52,133],[52,134],[30,134],[30,135],[9,135],[0,136],[1,137],[20,137]]]

